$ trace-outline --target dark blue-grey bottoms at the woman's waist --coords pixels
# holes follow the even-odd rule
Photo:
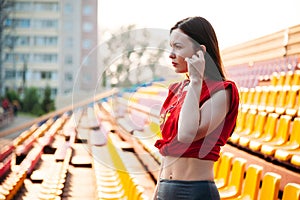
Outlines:
[[[158,200],[219,200],[220,195],[213,181],[182,181],[161,179]]]

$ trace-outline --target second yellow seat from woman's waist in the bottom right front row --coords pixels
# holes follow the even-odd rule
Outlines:
[[[229,197],[232,198],[240,195],[242,190],[241,183],[244,179],[246,162],[247,161],[244,158],[235,158],[233,160],[228,185],[219,189],[221,199],[226,199]]]

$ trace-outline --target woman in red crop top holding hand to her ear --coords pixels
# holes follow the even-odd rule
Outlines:
[[[170,30],[172,65],[187,79],[169,86],[161,110],[160,180],[154,199],[220,199],[213,165],[230,137],[239,96],[226,80],[211,24],[202,17],[176,23]]]

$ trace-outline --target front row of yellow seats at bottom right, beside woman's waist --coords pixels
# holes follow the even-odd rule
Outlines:
[[[281,175],[266,172],[262,166],[250,164],[247,160],[223,152],[214,165],[215,182],[221,199],[278,199]],[[288,183],[282,192],[282,200],[299,198],[300,185]]]

